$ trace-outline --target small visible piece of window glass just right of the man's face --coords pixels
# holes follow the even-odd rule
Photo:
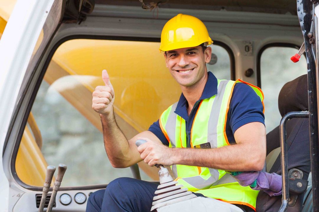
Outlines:
[[[207,70],[212,72],[217,79],[230,79],[229,54],[221,46],[211,45],[211,62],[207,64]]]

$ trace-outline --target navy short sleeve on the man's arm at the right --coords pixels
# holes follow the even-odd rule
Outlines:
[[[227,117],[233,134],[239,127],[251,122],[265,125],[260,97],[245,83],[237,83],[234,86]]]

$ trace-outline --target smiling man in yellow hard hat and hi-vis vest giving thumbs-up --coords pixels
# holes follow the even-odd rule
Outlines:
[[[115,168],[141,160],[150,166],[172,166],[176,181],[196,195],[254,211],[258,191],[240,186],[225,170],[263,168],[263,94],[253,85],[218,80],[207,72],[211,47],[206,45],[211,43],[205,25],[196,17],[179,14],[165,24],[160,50],[182,95],[148,131],[125,138],[114,118],[115,94],[106,70],[102,72],[105,86],[96,87],[92,107],[100,113],[105,149]],[[137,148],[137,139],[147,142]],[[150,211],[157,186],[116,179],[90,195],[87,211]]]

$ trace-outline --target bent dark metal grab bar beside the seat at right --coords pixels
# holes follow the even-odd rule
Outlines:
[[[286,122],[292,118],[308,118],[308,111],[289,112],[282,117],[279,125],[280,133],[280,151],[281,151],[281,175],[282,175],[282,203],[279,212],[285,212],[288,207],[289,186],[288,186],[288,160],[287,160],[287,142],[286,142]]]

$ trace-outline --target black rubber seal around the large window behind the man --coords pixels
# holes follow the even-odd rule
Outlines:
[[[39,75],[39,78],[36,79],[36,83],[35,83],[35,87],[32,91],[31,97],[30,99],[26,100],[23,99],[23,101],[28,101],[28,106],[26,108],[26,112],[24,114],[21,126],[19,127],[19,132],[18,132],[18,136],[17,136],[17,140],[13,149],[13,153],[12,153],[12,158],[11,158],[11,174],[13,176],[13,178],[15,179],[15,181],[22,186],[23,188],[26,188],[28,190],[32,190],[32,191],[42,191],[42,187],[36,187],[36,186],[31,186],[28,185],[26,183],[24,183],[22,180],[20,180],[17,172],[16,172],[16,168],[15,168],[15,163],[16,163],[16,159],[17,159],[17,154],[18,154],[18,150],[19,150],[19,146],[21,143],[21,139],[22,139],[22,135],[24,132],[24,129],[26,127],[27,124],[27,118],[31,112],[35,97],[39,91],[40,85],[43,81],[45,72],[48,69],[48,65],[54,55],[54,53],[56,52],[57,48],[62,45],[63,43],[65,43],[66,41],[69,40],[74,40],[74,39],[97,39],[97,40],[122,40],[122,41],[144,41],[144,42],[160,42],[160,38],[147,38],[147,37],[124,37],[124,36],[93,36],[93,35],[72,35],[72,36],[67,36],[65,38],[62,38],[61,40],[59,40],[58,42],[56,42],[56,44],[52,47],[51,51],[48,54],[48,57],[43,65],[43,68],[41,70],[41,73]],[[220,41],[214,41],[214,44],[219,45],[221,47],[223,47],[224,49],[226,49],[229,58],[230,58],[230,67],[231,67],[231,79],[234,80],[235,77],[235,57],[234,57],[234,53],[231,50],[231,48]],[[36,70],[33,71],[33,74]],[[31,82],[33,79],[30,78],[29,82]],[[29,88],[27,89],[26,92],[28,92]],[[31,103],[31,104],[30,104]],[[14,125],[14,124],[13,124]],[[154,181],[157,182],[157,181]],[[101,189],[101,188],[106,188],[107,184],[100,184],[100,185],[84,185],[84,186],[72,186],[72,187],[60,187],[60,191],[67,191],[67,190],[90,190],[90,189]],[[50,188],[50,191],[52,191],[52,188]]]

